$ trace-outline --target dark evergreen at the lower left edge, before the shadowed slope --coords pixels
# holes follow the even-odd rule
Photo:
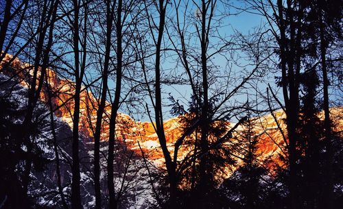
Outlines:
[[[21,137],[19,130],[23,128],[21,121],[26,109],[19,108],[16,101],[8,97],[0,97],[0,204],[1,208],[33,208],[34,202],[27,195],[23,184],[25,167],[23,164],[31,160],[33,170],[42,172],[48,160],[44,157],[41,142],[37,142],[40,123],[34,123],[29,132],[31,151],[27,150],[27,142]]]

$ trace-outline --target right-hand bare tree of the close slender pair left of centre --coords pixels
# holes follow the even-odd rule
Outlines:
[[[119,204],[120,193],[115,194],[114,187],[114,148],[116,136],[116,119],[117,113],[123,102],[121,95],[123,93],[123,78],[130,79],[130,76],[123,75],[124,71],[130,71],[130,64],[136,62],[134,60],[134,50],[131,42],[134,40],[134,35],[137,33],[138,21],[141,12],[140,3],[135,1],[118,0],[113,4],[113,9],[117,16],[115,21],[115,95],[111,101],[110,123],[109,123],[109,137],[108,137],[108,159],[107,159],[107,180],[109,193],[109,207],[117,208]],[[128,72],[130,75],[133,72]],[[129,90],[130,92],[131,90]],[[126,95],[127,97],[128,95]],[[126,98],[124,97],[124,98]],[[130,160],[129,162],[130,163]],[[121,191],[123,192],[123,191]]]

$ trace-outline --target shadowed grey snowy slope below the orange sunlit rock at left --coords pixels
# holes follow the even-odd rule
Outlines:
[[[27,88],[18,84],[14,79],[0,73],[0,97],[6,98],[11,103],[18,103],[18,111],[25,110],[27,106]],[[25,112],[25,111],[24,111]],[[21,124],[24,115],[12,123]],[[44,101],[39,101],[34,110],[34,118],[39,121],[38,135],[32,140],[47,160],[43,169],[32,169],[30,174],[31,184],[29,185],[29,197],[34,199],[40,206],[60,208],[60,194],[56,187],[56,155],[54,152],[54,137],[51,130],[49,108]],[[64,198],[69,201],[71,192],[71,128],[60,117],[54,115],[56,127],[56,141],[60,157],[60,175]],[[25,149],[25,147],[23,147]],[[106,156],[108,145],[102,142],[102,186],[106,190]],[[80,133],[80,169],[81,169],[81,193],[84,208],[91,208],[95,203],[93,188],[93,141],[91,136]],[[123,144],[116,146],[115,159],[115,189],[120,193],[119,208],[145,208],[145,204],[154,201],[150,178],[147,173],[144,161]],[[19,164],[19,167],[23,165]],[[126,171],[127,169],[127,171]],[[154,167],[150,167],[154,169]],[[125,173],[125,175],[124,175]],[[107,194],[103,194],[104,205],[106,205]],[[129,207],[130,206],[130,207]]]

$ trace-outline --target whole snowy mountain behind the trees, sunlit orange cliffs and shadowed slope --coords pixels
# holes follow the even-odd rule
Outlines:
[[[28,81],[32,79],[32,71],[29,64],[25,64],[15,59],[7,68],[3,68],[6,62],[10,60],[12,56],[7,55],[3,62],[0,64],[0,69],[3,69],[0,73],[0,83],[6,81],[6,85],[1,85],[0,93],[3,95],[10,95],[12,102],[20,103],[21,108],[25,108],[27,103],[27,86]],[[39,77],[39,76],[38,76]],[[15,88],[13,88],[15,86]],[[60,147],[61,154],[61,172],[63,176],[62,186],[66,193],[70,191],[69,182],[71,180],[71,127],[73,125],[73,92],[75,90],[75,83],[70,79],[62,79],[58,76],[55,71],[47,69],[47,86],[52,90],[54,97],[52,98],[54,111],[54,121],[56,121],[56,130],[58,135],[58,146]],[[11,90],[15,89],[11,92]],[[40,104],[36,110],[36,116],[41,117],[43,126],[40,127],[42,130],[40,140],[51,138],[51,127],[49,124],[49,108],[47,107],[48,101],[47,87],[44,86],[42,93],[40,93]],[[99,104],[97,99],[91,92],[88,91],[84,86],[82,87],[81,93],[81,104],[80,104],[80,156],[82,158],[82,195],[84,197],[84,206],[87,208],[94,204],[93,197],[93,179],[92,179],[92,161],[93,161],[93,131],[95,129],[96,112]],[[343,108],[332,108],[331,116],[333,121],[337,124],[338,130],[342,130],[343,125]],[[38,114],[38,112],[40,112]],[[43,112],[43,113],[42,113]],[[109,133],[109,116],[110,116],[110,103],[106,103],[105,112],[103,115],[104,125],[102,127],[102,186],[106,188],[106,152],[107,152],[107,141]],[[323,118],[323,114],[319,116]],[[22,118],[22,116],[21,116]],[[276,119],[276,120],[275,120]],[[279,110],[252,119],[254,126],[252,131],[257,137],[257,158],[260,164],[267,167],[272,173],[278,167],[285,167],[282,158],[287,155],[286,143],[283,138],[283,134],[280,130],[285,132],[285,114]],[[20,121],[20,120],[19,120]],[[182,134],[182,129],[185,126],[182,122],[182,116],[178,116],[173,119],[169,119],[163,123],[165,127],[165,135],[167,138],[167,146],[171,153],[174,151],[174,143],[178,137]],[[235,124],[228,121],[217,121],[217,125],[224,127],[229,130]],[[233,134],[233,138],[230,141],[224,143],[225,145],[235,145],[239,143],[239,137],[241,137],[240,131],[244,130],[242,125],[239,125]],[[143,208],[146,201],[152,197],[152,188],[150,186],[150,175],[145,168],[144,158],[147,158],[150,163],[150,169],[156,171],[159,168],[163,168],[164,158],[163,153],[158,143],[158,137],[154,132],[152,123],[134,121],[128,114],[118,113],[117,124],[116,124],[116,136],[117,136],[117,149],[119,156],[117,156],[116,175],[119,178],[116,180],[116,188],[121,190],[124,183],[130,182],[130,188],[125,193],[126,198],[130,199],[123,205],[135,205],[137,208],[140,206]],[[191,143],[194,140],[194,135],[186,138],[185,144]],[[49,143],[49,140],[46,141]],[[139,145],[142,149],[140,149]],[[37,195],[36,193],[52,193],[54,190],[57,193],[56,188],[53,188],[54,182],[56,182],[56,169],[54,168],[55,153],[53,147],[47,146],[42,148],[45,152],[45,156],[50,159],[49,169],[46,173],[32,173],[34,176],[34,184],[32,186],[31,195]],[[143,151],[143,153],[142,153]],[[190,153],[191,147],[183,145],[178,152],[178,160],[182,161],[188,153]],[[237,164],[230,165],[224,169],[224,171],[218,175],[222,178],[229,177],[238,165],[242,163],[241,153],[237,151],[235,153],[235,160]],[[128,165],[128,167],[126,167]],[[128,172],[127,172],[128,171]],[[134,178],[135,177],[135,178]],[[40,180],[46,180],[48,183],[42,183]],[[143,182],[143,183],[141,183]],[[43,186],[43,187],[42,187]],[[37,188],[40,188],[37,190]],[[54,197],[56,198],[56,197]],[[104,197],[106,198],[106,197]],[[44,204],[52,204],[54,201],[51,195],[45,195],[38,199],[38,202]],[[153,199],[153,198],[150,198]],[[123,208],[125,208],[123,206]]]

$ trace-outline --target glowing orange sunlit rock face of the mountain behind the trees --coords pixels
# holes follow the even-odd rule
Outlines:
[[[10,60],[11,56],[6,56],[5,61],[0,64],[0,67]],[[29,74],[32,74],[29,70],[28,64],[23,64],[19,60],[14,60],[11,64],[11,70],[3,71],[6,75],[17,75],[17,79],[21,81],[23,86],[28,86],[26,83]],[[28,79],[29,80],[29,79]],[[56,75],[51,69],[47,69],[47,84],[49,88],[54,93],[54,98],[52,99],[54,103],[54,108],[58,108],[54,113],[62,121],[66,122],[70,127],[73,125],[72,115],[73,115],[73,92],[75,90],[75,84],[69,79],[61,79]],[[40,94],[40,99],[42,101],[47,101],[47,88],[43,88],[43,92]],[[93,130],[95,129],[96,121],[96,111],[99,101],[96,99],[92,93],[88,92],[85,87],[82,87],[81,93],[81,105],[80,105],[80,131],[84,136],[84,143],[92,143]],[[332,116],[337,121],[338,128],[341,129],[342,121],[342,110],[343,108],[333,108]],[[272,115],[274,114],[274,116]],[[285,139],[280,131],[283,130],[285,134],[285,114],[282,111],[273,112],[265,116],[254,119],[253,132],[258,138],[257,143],[257,156],[261,162],[266,162],[268,160],[268,167],[283,167],[283,162],[280,157],[287,155],[285,148]],[[105,112],[103,115],[104,125],[102,127],[102,141],[106,142],[108,140],[109,133],[109,116],[110,116],[110,103],[106,103]],[[320,113],[322,116],[322,113]],[[277,119],[277,122],[275,119]],[[176,117],[174,119],[169,119],[163,123],[165,127],[165,135],[167,138],[167,146],[169,151],[172,153],[174,151],[174,143],[182,134],[182,120],[181,117]],[[233,123],[220,123],[224,125],[227,130],[233,127]],[[243,130],[244,127],[237,127],[236,132],[233,134],[233,140],[239,138],[239,130]],[[141,154],[141,148],[149,160],[154,162],[155,165],[163,166],[163,153],[160,149],[158,138],[154,132],[154,127],[152,123],[147,122],[136,122],[127,114],[119,113],[117,114],[117,125],[116,125],[117,139],[128,149],[134,151],[137,154]],[[192,136],[190,136],[192,137]],[[185,158],[187,153],[189,153],[189,147],[182,146],[178,152],[178,160]],[[240,162],[239,158],[236,159]],[[230,172],[235,170],[235,168],[228,169],[228,173],[224,175],[230,175]]]

